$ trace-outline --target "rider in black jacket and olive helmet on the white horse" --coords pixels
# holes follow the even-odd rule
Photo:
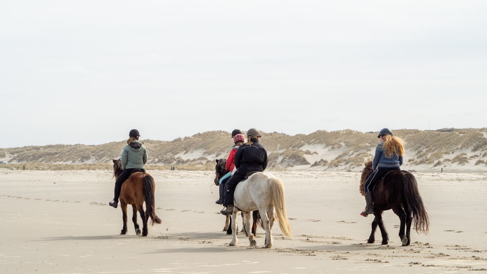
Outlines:
[[[220,213],[229,215],[233,213],[233,193],[235,187],[252,171],[264,171],[267,167],[267,151],[259,144],[261,134],[255,128],[247,130],[247,143],[241,145],[235,152],[235,167],[237,171],[226,183],[225,206]]]

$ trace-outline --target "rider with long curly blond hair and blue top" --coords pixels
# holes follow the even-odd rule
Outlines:
[[[374,171],[364,183],[366,206],[362,213],[360,213],[363,217],[367,217],[367,215],[374,213],[372,192],[374,191],[375,184],[379,182],[387,172],[401,170],[400,166],[403,162],[403,141],[400,138],[393,136],[391,129],[382,128],[379,131],[377,138],[380,139],[380,143],[375,147],[375,156],[374,161],[372,162]]]

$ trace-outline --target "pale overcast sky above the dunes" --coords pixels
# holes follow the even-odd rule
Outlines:
[[[163,141],[485,128],[486,13],[484,0],[2,0],[0,147],[132,128]]]

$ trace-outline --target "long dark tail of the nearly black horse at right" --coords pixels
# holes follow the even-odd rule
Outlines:
[[[406,203],[412,213],[412,219],[414,220],[414,229],[418,233],[422,232],[428,234],[430,230],[430,217],[426,212],[423,199],[419,194],[416,178],[414,178],[414,175],[410,172],[404,172],[403,182]]]

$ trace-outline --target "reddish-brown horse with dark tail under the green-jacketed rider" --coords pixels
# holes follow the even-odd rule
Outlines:
[[[113,177],[115,180],[123,172],[120,159],[113,160]],[[135,227],[135,234],[140,235],[141,231],[137,223],[137,211],[142,219],[142,236],[147,236],[147,220],[151,219],[150,224],[154,222],[161,223],[161,219],[155,214],[154,202],[155,182],[152,176],[145,172],[133,172],[129,179],[122,184],[120,191],[120,206],[122,208],[123,228],[120,235],[127,233],[127,205],[132,205],[132,221]],[[146,211],[144,212],[143,203],[146,203]]]

